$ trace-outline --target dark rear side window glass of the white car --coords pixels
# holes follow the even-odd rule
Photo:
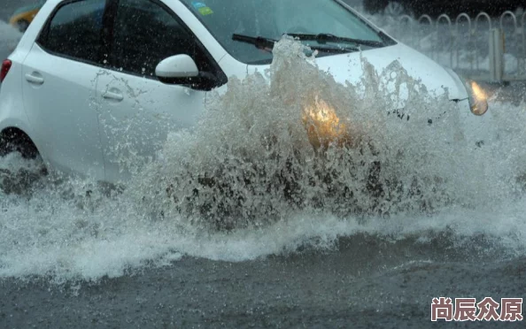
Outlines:
[[[60,56],[99,63],[105,4],[106,0],[82,0],[59,7],[38,43]]]

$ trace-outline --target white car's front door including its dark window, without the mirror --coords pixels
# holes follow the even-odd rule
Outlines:
[[[226,80],[180,19],[153,0],[120,0],[114,14],[111,69],[97,78],[106,180],[128,180],[155,157],[168,132],[196,124],[209,88],[163,83],[160,61],[187,54],[201,72]]]

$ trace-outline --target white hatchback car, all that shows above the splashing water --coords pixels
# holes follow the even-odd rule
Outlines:
[[[49,0],[2,65],[0,153],[126,180],[124,157],[153,157],[168,131],[194,126],[210,90],[267,68],[283,34],[318,50],[336,80],[360,78],[360,57],[379,70],[398,59],[460,111],[487,110],[458,75],[340,0]],[[130,124],[143,112],[152,119]]]

